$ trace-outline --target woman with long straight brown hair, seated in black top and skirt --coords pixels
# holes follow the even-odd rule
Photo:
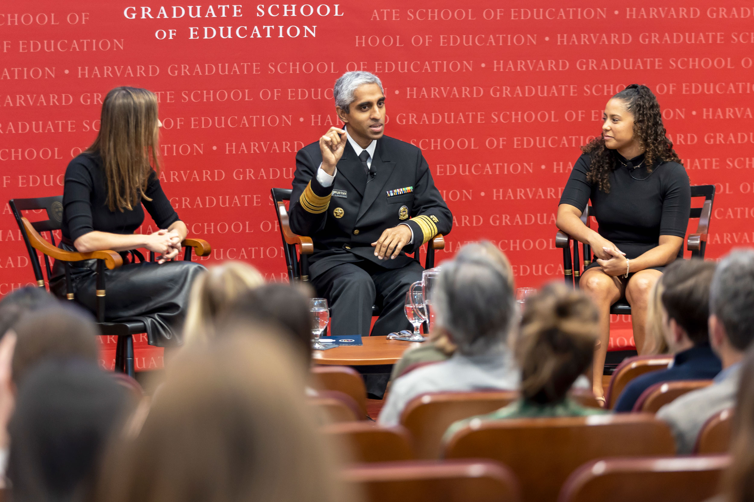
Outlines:
[[[204,267],[176,257],[188,230],[159,181],[157,98],[146,89],[116,87],[102,105],[100,132],[66,169],[60,247],[81,253],[112,249],[124,265],[106,270],[106,321],[143,321],[149,343],[176,342],[192,281]],[[149,211],[158,231],[134,233]],[[154,263],[130,263],[127,251],[146,248]],[[130,254],[133,257],[133,253]],[[71,263],[75,300],[95,310],[96,261]],[[63,263],[51,291],[66,297]]]

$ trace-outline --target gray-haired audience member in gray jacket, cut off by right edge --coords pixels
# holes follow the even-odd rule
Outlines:
[[[711,416],[736,404],[746,349],[754,339],[754,250],[734,250],[717,266],[710,286],[710,345],[722,371],[713,385],[684,394],[657,412],[670,425],[678,453],[691,453]]]

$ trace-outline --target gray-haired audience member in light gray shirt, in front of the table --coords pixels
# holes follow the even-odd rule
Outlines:
[[[398,424],[406,404],[428,392],[519,387],[507,345],[516,319],[513,288],[501,266],[483,254],[461,254],[443,263],[433,295],[436,329],[456,345],[455,354],[396,379],[380,424]]]

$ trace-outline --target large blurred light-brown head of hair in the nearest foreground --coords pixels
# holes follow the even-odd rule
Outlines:
[[[358,500],[283,337],[246,331],[176,354],[139,436],[109,451],[98,500]]]

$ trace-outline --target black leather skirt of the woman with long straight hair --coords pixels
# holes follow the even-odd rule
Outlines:
[[[75,251],[60,243],[60,248]],[[121,253],[124,264],[105,269],[105,320],[107,322],[142,321],[146,324],[149,345],[175,346],[182,343],[181,330],[189,307],[189,293],[194,279],[204,266],[192,261],[128,263],[133,255]],[[96,312],[97,260],[71,263],[75,301]],[[50,291],[66,298],[66,275],[63,262],[55,260]]]

